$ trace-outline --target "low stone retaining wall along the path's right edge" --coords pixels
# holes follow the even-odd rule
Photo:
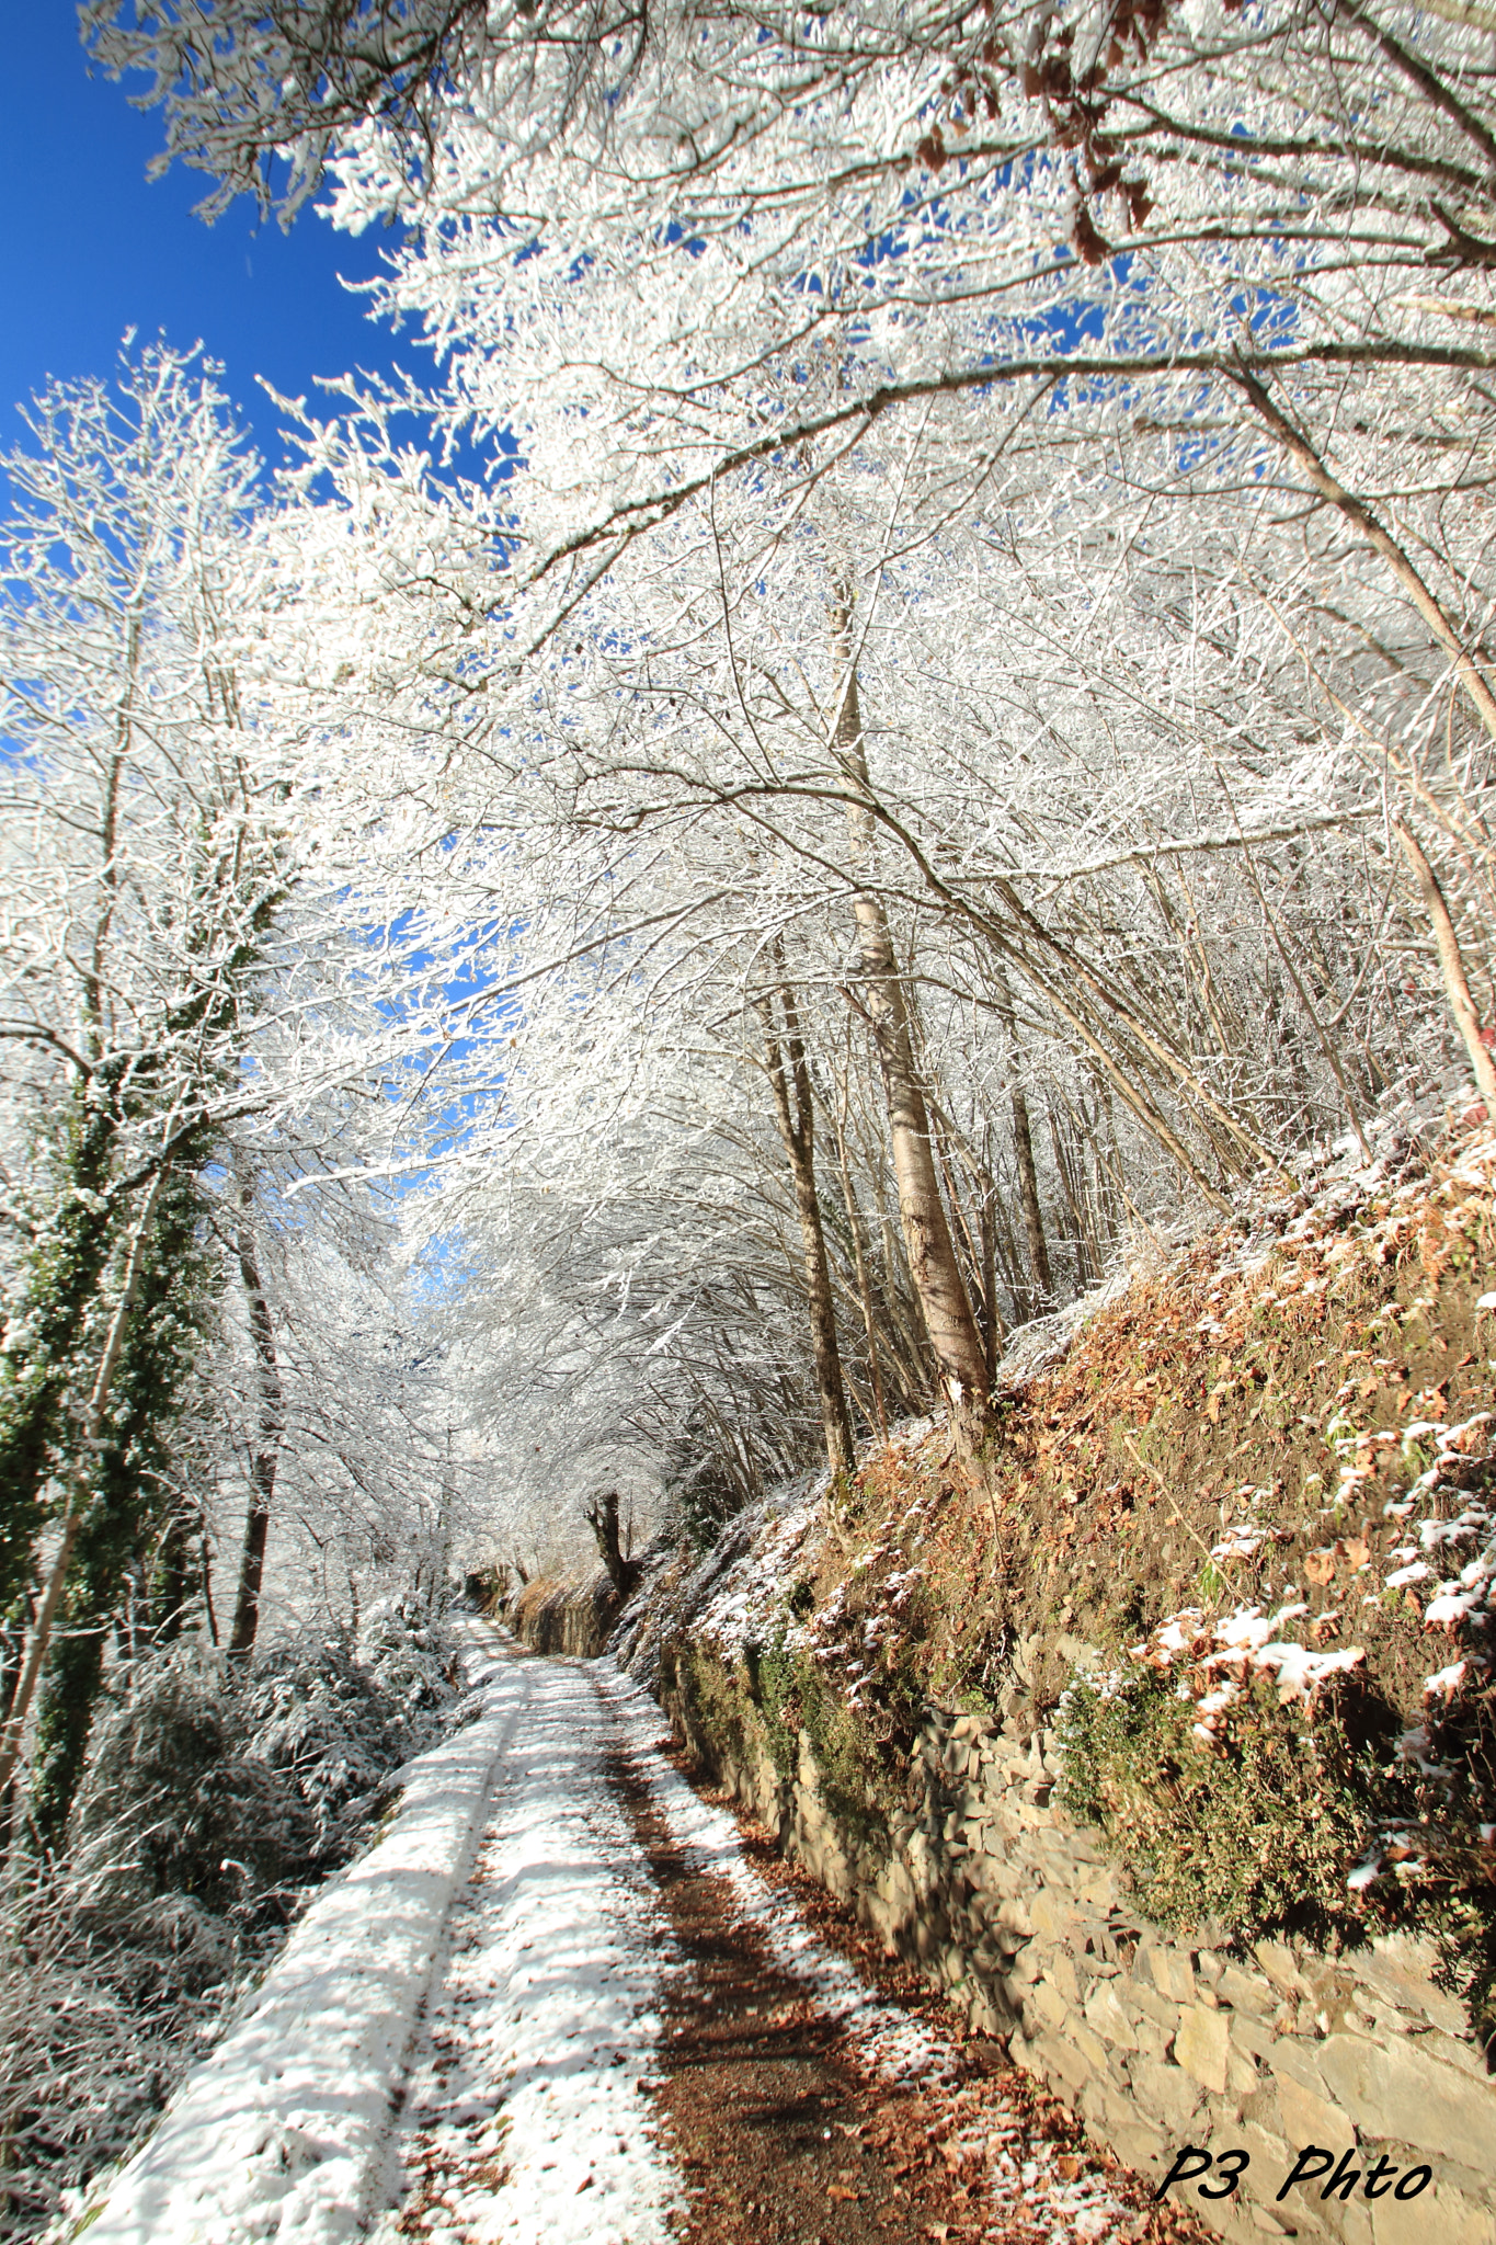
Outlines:
[[[920,1960],[982,2034],[1007,2036],[1130,2166],[1162,2180],[1175,2151],[1247,2151],[1234,2200],[1175,2187],[1229,2238],[1496,2245],[1496,2083],[1460,2005],[1409,1937],[1326,1958],[1258,1942],[1171,1940],[1137,1917],[1097,1834],[1052,1803],[1052,1738],[931,1711],[911,1796],[888,1823],[832,1814],[810,1740],[794,1783],[767,1756],[722,1760],[666,1708],[700,1760],[890,1946]],[[1278,2202],[1310,2144],[1377,2155],[1433,2182],[1411,2200],[1323,2180]],[[1211,2182],[1211,2175],[1202,2178]]]

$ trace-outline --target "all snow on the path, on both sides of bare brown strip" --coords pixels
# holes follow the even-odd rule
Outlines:
[[[471,1637],[493,1648],[498,1632]],[[653,2092],[689,1967],[610,1783],[619,1753],[870,2074],[938,2097],[955,2083],[955,2043],[785,1906],[731,1816],[659,1753],[659,1708],[612,1661],[484,1657],[478,1720],[408,1767],[388,1832],[323,1888],[96,2193],[90,2245],[668,2245],[686,2198]],[[1021,2207],[1056,2241],[1112,2234],[1101,2175],[1063,2180],[1016,2115],[1012,2137],[994,2216]]]

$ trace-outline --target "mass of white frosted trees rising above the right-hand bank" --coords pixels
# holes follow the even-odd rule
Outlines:
[[[298,489],[480,961],[444,1156],[536,1457],[565,1401],[742,1493],[837,1374],[976,1455],[1128,1239],[1496,1091],[1474,0],[206,22],[90,13],[179,153],[397,220],[442,359]]]

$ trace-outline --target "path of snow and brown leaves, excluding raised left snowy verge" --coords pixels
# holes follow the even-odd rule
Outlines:
[[[612,1664],[516,1699],[377,2245],[1198,2236],[767,1834]]]

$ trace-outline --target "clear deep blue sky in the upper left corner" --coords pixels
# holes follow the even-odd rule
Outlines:
[[[289,236],[249,202],[206,227],[206,180],[173,171],[146,184],[159,112],[130,108],[128,85],[90,76],[72,0],[9,0],[11,94],[0,135],[0,451],[25,438],[16,404],[49,375],[108,375],[135,326],[224,361],[224,388],[260,449],[278,458],[276,411],[256,384],[289,395],[348,366],[431,368],[410,337],[363,317],[339,274],[379,267],[379,236],[350,240],[305,211]]]

